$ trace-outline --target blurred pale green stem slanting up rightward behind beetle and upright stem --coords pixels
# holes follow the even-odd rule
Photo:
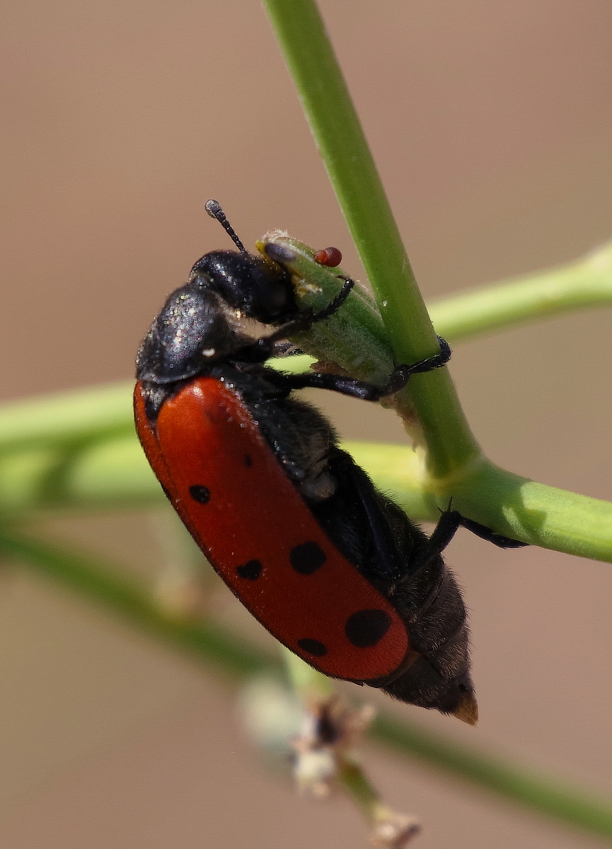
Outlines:
[[[312,256],[312,249],[308,250]],[[329,269],[311,261],[306,272],[318,284],[317,273],[323,275]],[[543,316],[602,305],[612,306],[612,243],[559,268],[452,295],[431,304],[430,314],[436,331],[458,342]],[[352,343],[348,356],[362,353],[365,327],[371,337],[368,346],[376,346],[374,352],[387,368],[390,348],[380,318],[370,309],[361,308],[360,312],[359,305],[354,318],[359,327],[353,332],[359,341]],[[329,346],[328,338],[324,342]],[[317,356],[323,357],[323,352]],[[285,371],[300,372],[312,359],[290,357],[272,362]],[[81,448],[131,435],[132,387],[133,382],[126,380],[4,403],[0,407],[0,458],[18,450]]]

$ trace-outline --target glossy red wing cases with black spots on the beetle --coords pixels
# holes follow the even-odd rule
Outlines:
[[[153,425],[139,383],[134,403],[144,452],[174,508],[268,631],[334,678],[376,681],[404,664],[401,617],[318,525],[233,391],[196,378]],[[351,628],[363,616],[365,635]]]

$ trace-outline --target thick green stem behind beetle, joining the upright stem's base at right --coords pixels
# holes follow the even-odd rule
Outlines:
[[[117,405],[127,387],[117,387]],[[87,399],[91,392],[87,391]],[[108,392],[103,393],[108,397]],[[89,401],[88,401],[89,402]],[[51,402],[53,407],[53,401]],[[25,404],[44,412],[45,402]],[[13,409],[13,415],[15,410]],[[0,427],[2,417],[0,416]],[[97,428],[97,423],[92,423]],[[59,447],[31,447],[0,456],[0,512],[24,520],[36,512],[146,508],[166,503],[136,437],[87,439]],[[62,447],[66,446],[67,447]],[[410,447],[350,442],[345,445],[385,492],[415,520],[435,521],[448,499],[463,514],[498,533],[568,554],[612,561],[612,503],[529,481],[480,462],[458,478],[432,480]]]

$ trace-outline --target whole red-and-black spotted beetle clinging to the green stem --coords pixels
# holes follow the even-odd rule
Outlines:
[[[238,252],[202,256],[138,351],[135,419],[155,475],[227,586],[295,654],[474,724],[466,611],[441,552],[460,525],[502,547],[523,543],[450,507],[428,538],[292,394],[313,386],[379,401],[441,368],[450,348],[440,340],[385,385],[270,368],[284,340],[341,308],[353,281],[341,278],[323,312],[300,311],[283,250],[250,255],[220,205],[206,209]],[[337,249],[319,254],[340,261]]]

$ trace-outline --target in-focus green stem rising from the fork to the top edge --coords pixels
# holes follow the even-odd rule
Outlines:
[[[429,357],[437,350],[435,331],[316,3],[265,0],[265,5],[396,359],[414,363]],[[446,369],[414,377],[410,396],[432,476],[451,476],[480,457]]]

